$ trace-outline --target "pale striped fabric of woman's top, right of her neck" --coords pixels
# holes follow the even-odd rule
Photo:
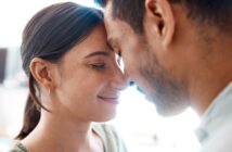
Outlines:
[[[106,152],[127,152],[125,142],[114,126],[108,124],[94,124],[93,130],[103,140]]]

